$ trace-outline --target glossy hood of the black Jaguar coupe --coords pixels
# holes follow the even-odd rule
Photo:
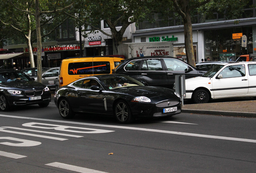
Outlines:
[[[166,99],[178,99],[178,97],[174,94],[174,91],[167,88],[162,87],[152,87],[152,86],[145,86],[145,87],[121,87],[112,89],[110,91],[123,93],[136,96],[145,96],[150,99],[161,97]]]

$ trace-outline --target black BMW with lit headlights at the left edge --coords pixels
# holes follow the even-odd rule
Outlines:
[[[19,70],[0,70],[0,109],[8,111],[15,105],[47,107],[50,89]]]

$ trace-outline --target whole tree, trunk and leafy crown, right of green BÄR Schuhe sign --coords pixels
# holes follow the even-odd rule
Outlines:
[[[159,6],[162,12],[168,15],[177,13],[182,17],[187,62],[192,66],[196,66],[191,17],[194,14],[209,17],[213,15],[213,12],[218,12],[227,20],[237,18],[242,15],[243,7],[248,4],[248,0],[163,0],[159,4],[162,4],[162,6]],[[169,5],[166,6],[165,4]]]

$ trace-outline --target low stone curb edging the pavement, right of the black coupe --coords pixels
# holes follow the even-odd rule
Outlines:
[[[256,118],[256,113],[248,113],[248,112],[231,112],[231,111],[212,111],[212,110],[182,109],[182,113],[199,113],[199,114],[225,115],[225,116],[231,116],[231,117]]]

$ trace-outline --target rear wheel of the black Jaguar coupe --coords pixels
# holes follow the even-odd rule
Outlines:
[[[60,116],[64,119],[70,119],[74,117],[74,113],[71,109],[70,104],[66,99],[62,99],[59,102],[58,109],[60,112]]]

